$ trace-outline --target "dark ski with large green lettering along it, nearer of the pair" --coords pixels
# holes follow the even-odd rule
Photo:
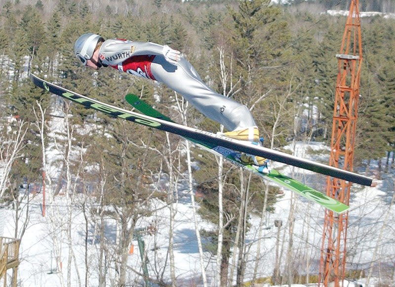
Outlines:
[[[366,176],[358,175],[356,173],[342,170],[336,167],[328,166],[325,164],[317,163],[304,158],[299,158],[284,152],[276,151],[270,148],[250,144],[248,142],[238,141],[230,139],[221,135],[205,132],[191,127],[186,127],[177,123],[169,122],[163,119],[147,116],[134,111],[118,108],[109,104],[102,103],[92,98],[80,95],[76,92],[65,89],[56,84],[50,83],[31,74],[30,78],[33,83],[53,94],[61,96],[65,99],[79,103],[87,108],[93,108],[111,116],[122,118],[131,122],[153,127],[162,131],[177,134],[183,137],[187,137],[193,140],[202,141],[207,144],[216,144],[231,150],[237,150],[239,152],[245,152],[249,154],[258,155],[271,159],[273,161],[285,163],[295,167],[299,167],[306,170],[311,170],[316,173],[331,176],[338,179],[344,179],[358,184],[370,186],[372,179]]]

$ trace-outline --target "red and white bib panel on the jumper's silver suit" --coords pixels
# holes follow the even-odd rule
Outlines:
[[[127,72],[135,76],[155,80],[151,72],[151,63],[154,58],[155,55],[132,56],[118,65],[110,66],[118,69],[120,72]]]

